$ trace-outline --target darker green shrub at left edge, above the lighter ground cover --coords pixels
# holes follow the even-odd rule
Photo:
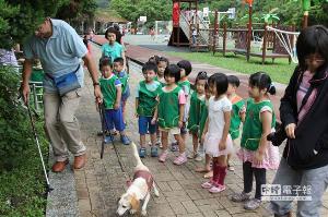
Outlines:
[[[22,152],[35,148],[27,110],[17,99],[19,85],[16,71],[0,65],[0,171],[12,169]],[[36,125],[44,143],[42,123]]]

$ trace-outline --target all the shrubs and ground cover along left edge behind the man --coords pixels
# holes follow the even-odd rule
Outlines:
[[[17,100],[20,77],[12,68],[0,65],[0,216],[44,216],[45,178],[27,110]],[[34,122],[47,162],[40,120]]]

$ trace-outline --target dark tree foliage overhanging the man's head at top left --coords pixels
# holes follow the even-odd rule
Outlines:
[[[0,0],[0,47],[22,43],[46,16],[92,16],[95,9],[95,0]]]

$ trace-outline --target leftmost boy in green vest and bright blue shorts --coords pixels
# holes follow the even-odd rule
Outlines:
[[[110,133],[114,128],[119,131],[120,140],[124,145],[129,145],[130,140],[125,132],[125,123],[121,112],[121,83],[119,79],[113,73],[113,64],[109,58],[102,58],[99,69],[103,77],[99,79],[102,94],[104,96],[103,103],[105,105],[105,125]],[[110,142],[112,136],[106,136],[106,142]]]

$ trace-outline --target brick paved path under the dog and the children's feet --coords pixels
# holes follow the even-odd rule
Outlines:
[[[93,48],[93,56],[97,61],[99,58],[98,48]],[[131,63],[130,70],[131,93],[136,85],[142,79],[140,68]],[[89,160],[86,167],[81,171],[75,171],[77,193],[79,198],[80,216],[115,216],[117,200],[127,189],[126,180],[132,176],[132,168],[136,160],[131,155],[131,147],[124,146],[119,142],[115,143],[118,154],[113,145],[105,148],[104,158],[99,158],[101,137],[96,132],[101,128],[98,113],[92,104],[93,86],[91,79],[86,73],[86,84],[83,88],[83,98],[79,109],[79,120],[83,133],[83,141],[87,146]],[[134,100],[130,97],[127,106],[128,128],[127,134],[139,144],[139,134],[137,119],[133,117]],[[191,148],[190,138],[187,147]],[[148,149],[148,152],[150,152]],[[174,154],[171,153],[169,160],[161,164],[156,158],[147,157],[143,162],[151,169],[155,177],[155,182],[160,189],[160,197],[152,194],[148,206],[148,215],[151,217],[163,216],[220,216],[220,217],[251,217],[269,216],[265,208],[266,204],[256,212],[246,212],[243,204],[230,202],[227,198],[233,192],[239,192],[243,189],[241,162],[235,158],[235,172],[229,172],[226,177],[227,190],[220,194],[210,194],[207,190],[200,188],[206,180],[201,174],[195,172],[197,166],[203,162],[189,160],[184,166],[173,165]],[[120,167],[119,161],[122,164]],[[268,172],[268,181],[271,181],[273,172]],[[325,195],[324,216],[328,215],[327,200]]]

